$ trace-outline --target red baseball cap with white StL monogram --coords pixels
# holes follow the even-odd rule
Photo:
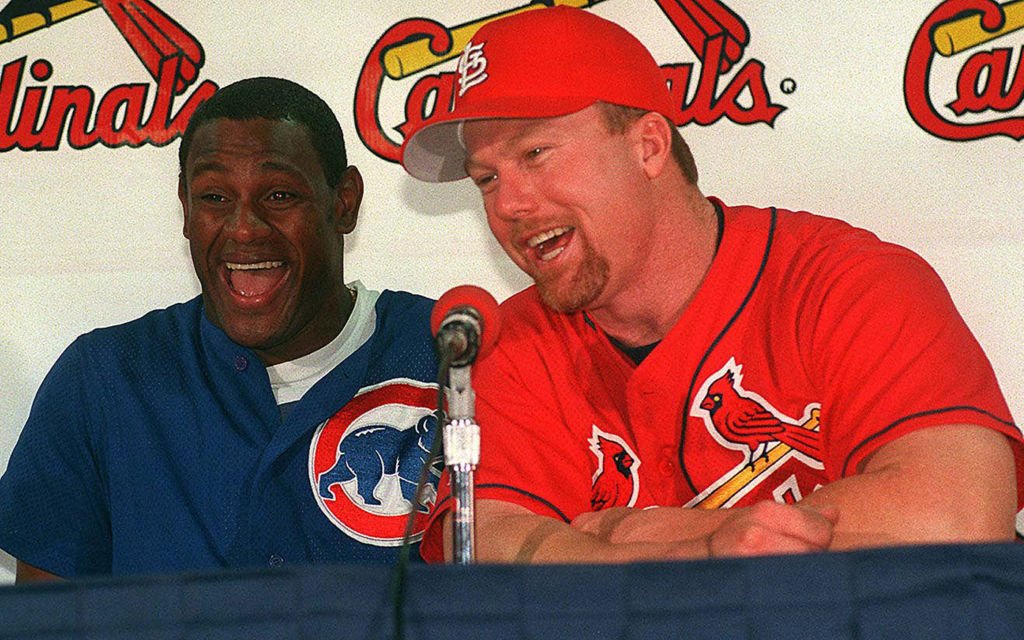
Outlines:
[[[466,177],[462,123],[554,118],[595,102],[634,106],[673,120],[665,75],[650,52],[618,25],[555,6],[487,23],[459,58],[453,111],[414,129],[401,164],[414,177]]]

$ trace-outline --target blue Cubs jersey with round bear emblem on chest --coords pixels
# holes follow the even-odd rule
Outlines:
[[[201,298],[77,339],[0,478],[0,548],[62,577],[393,561],[435,496],[433,303],[367,293],[372,330],[284,418]]]

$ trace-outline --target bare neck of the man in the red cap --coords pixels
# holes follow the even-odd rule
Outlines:
[[[588,309],[590,317],[627,346],[657,342],[689,306],[711,268],[718,243],[715,206],[696,187],[658,202],[646,260],[608,301]]]

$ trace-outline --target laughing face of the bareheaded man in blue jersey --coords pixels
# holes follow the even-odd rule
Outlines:
[[[267,365],[330,342],[352,306],[343,238],[361,195],[352,167],[337,186],[327,183],[302,125],[200,126],[178,196],[209,319]]]

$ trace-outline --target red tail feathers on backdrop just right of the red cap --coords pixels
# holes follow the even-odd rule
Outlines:
[[[751,39],[746,25],[719,0],[657,0],[657,5],[700,59],[709,40],[725,39],[721,73],[728,72],[743,56]]]

